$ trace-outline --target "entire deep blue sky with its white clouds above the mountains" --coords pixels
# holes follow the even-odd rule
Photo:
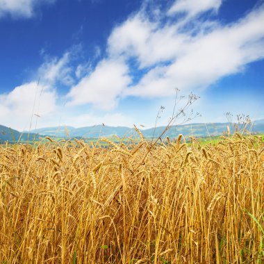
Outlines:
[[[263,59],[264,1],[0,0],[0,124],[164,125],[174,88],[261,119]]]

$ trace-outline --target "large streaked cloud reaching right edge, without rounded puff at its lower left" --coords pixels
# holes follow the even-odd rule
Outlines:
[[[180,3],[190,1],[176,2]],[[193,15],[220,5],[219,1],[205,2],[206,6],[199,3],[196,11],[188,12]],[[135,58],[138,69],[147,70],[136,85],[126,89],[126,96],[166,97],[175,86],[183,90],[206,88],[264,58],[264,6],[224,26],[197,20],[183,30],[179,24],[160,26],[139,13],[113,30],[108,40],[110,56],[122,56],[126,61]]]

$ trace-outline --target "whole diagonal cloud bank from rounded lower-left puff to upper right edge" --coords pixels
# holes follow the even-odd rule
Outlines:
[[[221,3],[175,1],[168,14],[185,12],[188,19],[192,17],[187,27],[162,12],[160,20],[151,20],[142,10],[129,17],[113,28],[108,56],[72,87],[67,105],[109,109],[117,106],[120,97],[168,97],[175,87],[186,92],[204,89],[264,58],[264,6],[227,25],[197,16],[208,10],[216,12]],[[76,76],[83,71],[79,66]],[[131,76],[138,83],[132,85]]]

